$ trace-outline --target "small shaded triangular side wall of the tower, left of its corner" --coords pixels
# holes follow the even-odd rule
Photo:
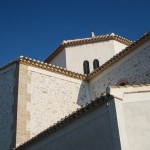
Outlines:
[[[50,64],[66,68],[66,50],[65,48],[55,57]]]

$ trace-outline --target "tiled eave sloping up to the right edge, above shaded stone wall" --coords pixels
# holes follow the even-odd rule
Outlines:
[[[146,43],[148,40],[150,40],[150,32],[144,34],[142,37],[140,37],[137,41],[133,42],[130,46],[126,47],[124,50],[113,56],[111,59],[109,59],[106,63],[104,63],[99,68],[92,71],[87,77],[86,81],[89,81],[93,78],[95,78],[97,75],[99,75],[101,72],[112,66],[113,64],[117,63],[119,60],[121,60],[123,57],[127,56],[129,53],[134,51],[136,48],[140,47],[142,44]]]

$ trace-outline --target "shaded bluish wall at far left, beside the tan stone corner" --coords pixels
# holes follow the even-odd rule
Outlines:
[[[10,150],[13,143],[15,68],[10,66],[0,71],[0,149]],[[15,140],[15,139],[14,139]]]

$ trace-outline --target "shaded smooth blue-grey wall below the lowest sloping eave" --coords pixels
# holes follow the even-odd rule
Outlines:
[[[26,150],[120,150],[116,122],[112,100]]]

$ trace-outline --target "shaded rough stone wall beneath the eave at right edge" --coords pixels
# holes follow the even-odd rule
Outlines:
[[[107,86],[116,85],[121,80],[127,80],[129,84],[150,83],[150,42],[91,80],[91,97],[99,97],[106,91]]]

